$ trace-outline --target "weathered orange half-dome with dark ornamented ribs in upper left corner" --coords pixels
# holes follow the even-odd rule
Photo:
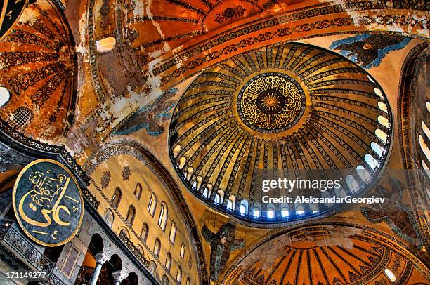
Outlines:
[[[76,54],[63,15],[48,1],[25,9],[0,41],[4,121],[25,135],[56,141],[74,118]],[[30,122],[31,121],[31,122]]]

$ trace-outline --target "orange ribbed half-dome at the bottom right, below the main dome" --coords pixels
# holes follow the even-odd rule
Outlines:
[[[412,253],[374,230],[308,225],[256,246],[223,284],[427,284],[430,272]],[[420,283],[422,282],[422,283]]]

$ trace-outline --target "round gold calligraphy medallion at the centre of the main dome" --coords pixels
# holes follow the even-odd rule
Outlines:
[[[304,114],[306,96],[287,74],[269,72],[249,79],[237,95],[237,113],[249,128],[278,133],[294,126]]]

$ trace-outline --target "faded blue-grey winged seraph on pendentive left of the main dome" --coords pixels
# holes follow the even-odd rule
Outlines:
[[[177,88],[164,92],[150,105],[139,107],[112,131],[111,135],[129,135],[145,128],[149,135],[157,136],[164,132],[161,126],[170,118],[175,101],[169,100],[178,93]]]

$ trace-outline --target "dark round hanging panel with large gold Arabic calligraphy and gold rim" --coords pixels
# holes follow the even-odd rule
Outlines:
[[[24,232],[43,246],[60,246],[79,230],[84,201],[72,173],[51,159],[25,166],[13,186],[13,210]]]

